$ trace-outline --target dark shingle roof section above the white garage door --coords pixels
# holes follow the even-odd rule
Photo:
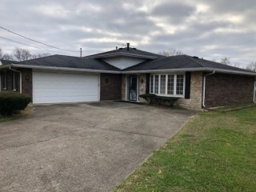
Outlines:
[[[119,70],[106,62],[92,58],[78,58],[64,55],[52,55],[45,58],[35,58],[19,64],[27,66],[55,66],[86,70]]]

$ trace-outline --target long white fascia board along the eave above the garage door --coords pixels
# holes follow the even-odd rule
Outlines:
[[[21,64],[12,64],[11,66],[18,68],[30,68],[35,70],[63,70],[63,71],[74,71],[74,72],[90,72],[90,73],[105,73],[105,74],[120,74],[120,71],[115,70],[90,70],[90,69],[77,69],[77,68],[69,68],[69,67],[58,67],[58,66],[28,66]]]

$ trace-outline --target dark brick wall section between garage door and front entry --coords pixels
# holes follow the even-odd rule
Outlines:
[[[121,74],[101,74],[101,100],[121,99]]]

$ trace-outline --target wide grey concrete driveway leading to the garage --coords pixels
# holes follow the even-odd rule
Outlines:
[[[110,191],[192,110],[125,102],[34,106],[0,123],[0,191]]]

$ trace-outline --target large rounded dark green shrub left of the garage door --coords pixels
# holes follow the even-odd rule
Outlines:
[[[0,92],[0,114],[10,116],[15,110],[24,110],[31,102],[31,97],[15,92]]]

